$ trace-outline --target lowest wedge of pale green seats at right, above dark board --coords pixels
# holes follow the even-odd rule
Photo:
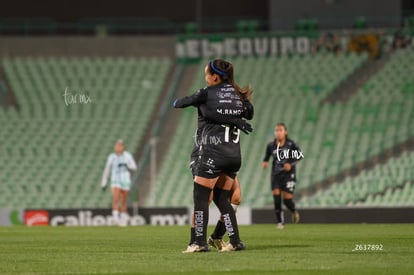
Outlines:
[[[404,152],[356,177],[300,201],[303,207],[409,206],[414,201],[414,153]]]

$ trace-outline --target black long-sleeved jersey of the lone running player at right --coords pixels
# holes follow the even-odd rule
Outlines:
[[[296,163],[303,158],[302,150],[291,139],[286,139],[283,146],[278,145],[277,140],[273,140],[266,147],[265,157],[263,161],[268,162],[273,157],[272,174],[273,175],[289,175],[295,174]],[[285,163],[292,164],[290,171],[285,171],[283,165]]]

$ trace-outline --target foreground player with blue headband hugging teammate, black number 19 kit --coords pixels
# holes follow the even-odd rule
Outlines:
[[[243,96],[249,88],[240,88],[234,82],[233,65],[224,60],[210,61],[204,70],[208,87],[192,96],[177,99],[175,108],[204,106],[222,120],[233,119],[237,123],[217,123],[206,120],[200,133],[200,153],[194,178],[195,243],[186,252],[209,251],[207,244],[208,201],[214,189],[214,202],[220,209],[229,233],[230,243],[221,251],[243,250],[237,219],[230,204],[230,190],[241,166],[240,130],[252,130],[243,117]],[[204,115],[204,117],[209,117]],[[243,125],[244,123],[244,125]],[[200,125],[200,124],[199,124]]]

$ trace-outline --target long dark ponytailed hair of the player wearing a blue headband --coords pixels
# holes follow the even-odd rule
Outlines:
[[[237,85],[237,83],[234,81],[234,66],[232,63],[223,59],[214,59],[208,63],[207,67],[209,74],[217,74],[220,77],[221,81],[229,82],[243,99],[247,99],[250,102],[252,101],[252,86],[247,85],[240,87]]]

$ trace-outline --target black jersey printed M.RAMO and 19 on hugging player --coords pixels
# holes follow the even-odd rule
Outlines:
[[[191,96],[176,100],[174,106],[198,107],[196,140],[200,155],[240,158],[240,130],[232,126],[231,121],[243,118],[246,107],[232,85],[222,83],[200,89]],[[203,112],[203,109],[209,112]]]

